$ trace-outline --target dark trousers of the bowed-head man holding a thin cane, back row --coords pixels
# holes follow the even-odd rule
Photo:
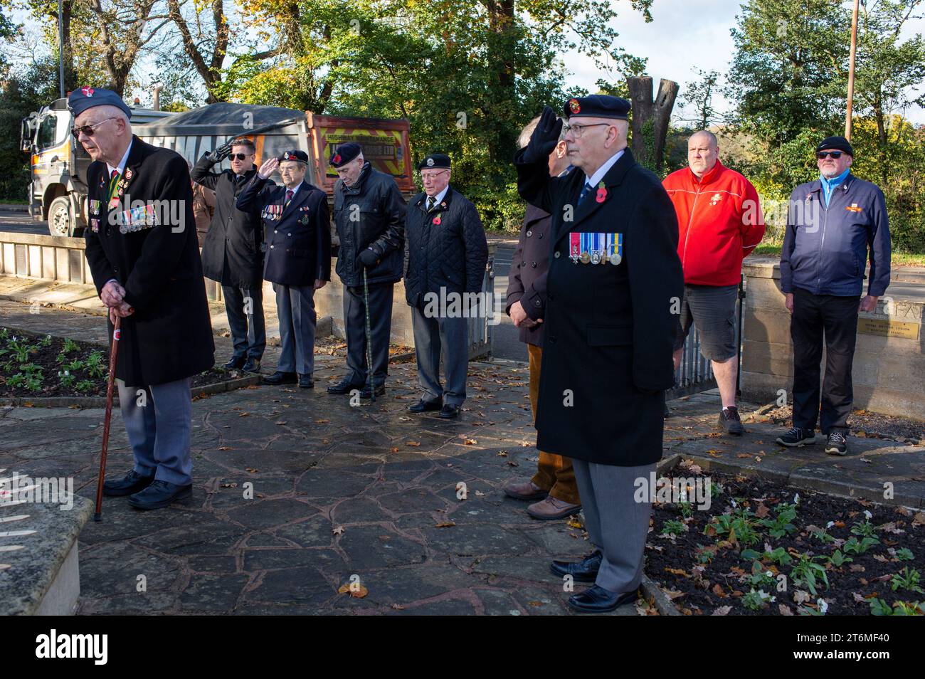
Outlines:
[[[373,345],[373,384],[385,384],[388,375],[388,339],[392,330],[393,283],[369,286],[369,327]],[[366,307],[363,286],[344,286],[344,330],[347,333],[347,377],[364,385],[366,375]]]

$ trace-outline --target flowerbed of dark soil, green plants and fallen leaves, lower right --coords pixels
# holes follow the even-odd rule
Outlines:
[[[702,473],[687,464],[684,475]],[[722,490],[709,509],[695,506],[686,517],[678,505],[655,506],[647,573],[672,591],[680,611],[925,614],[917,547],[925,513],[745,476],[710,475],[710,482]]]

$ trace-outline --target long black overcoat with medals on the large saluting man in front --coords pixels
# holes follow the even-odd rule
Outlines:
[[[672,201],[629,149],[581,204],[580,169],[550,178],[546,159],[524,164],[523,151],[515,166],[521,196],[552,216],[536,445],[591,463],[656,463],[684,292]],[[571,232],[622,234],[622,259],[574,263]]]

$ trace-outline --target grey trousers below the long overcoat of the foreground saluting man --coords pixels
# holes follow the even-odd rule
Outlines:
[[[611,592],[631,592],[642,581],[648,519],[652,503],[636,502],[635,480],[655,464],[617,467],[572,459],[578,494],[585,512],[587,537],[603,553],[596,585]]]

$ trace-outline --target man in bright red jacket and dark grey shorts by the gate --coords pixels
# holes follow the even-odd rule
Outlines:
[[[764,236],[758,191],[738,172],[723,167],[716,136],[707,130],[687,141],[689,167],[662,182],[678,214],[678,256],[685,270],[681,328],[674,342],[674,369],[691,324],[700,352],[713,365],[722,396],[720,425],[743,433],[735,408],[735,299],[742,260]]]

